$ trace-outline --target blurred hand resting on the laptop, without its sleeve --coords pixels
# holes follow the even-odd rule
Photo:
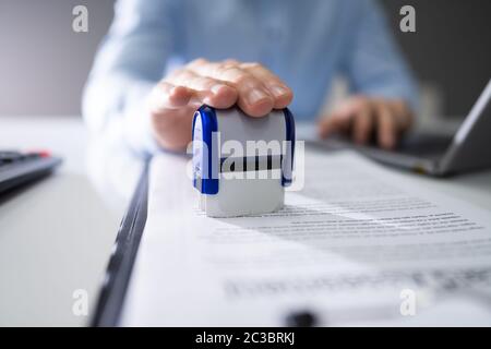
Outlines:
[[[358,144],[366,144],[375,135],[379,146],[391,149],[410,128],[412,119],[403,100],[355,96],[321,119],[319,131],[322,137],[333,133],[350,135]]]

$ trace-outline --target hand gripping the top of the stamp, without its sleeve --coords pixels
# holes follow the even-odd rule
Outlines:
[[[191,141],[194,111],[207,104],[229,108],[237,104],[251,117],[287,107],[294,94],[271,71],[258,63],[197,59],[160,81],[147,99],[157,143],[183,149]]]

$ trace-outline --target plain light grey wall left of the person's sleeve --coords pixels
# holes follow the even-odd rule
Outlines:
[[[0,0],[0,116],[80,115],[92,58],[113,0]],[[72,9],[88,9],[88,33]]]

